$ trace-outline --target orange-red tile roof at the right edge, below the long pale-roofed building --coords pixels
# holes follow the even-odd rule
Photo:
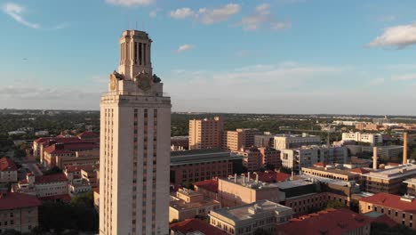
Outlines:
[[[404,201],[400,196],[386,192],[379,192],[370,197],[360,199],[360,201],[380,205],[382,207],[389,207],[400,211],[416,213],[416,199],[413,199],[411,202]]]

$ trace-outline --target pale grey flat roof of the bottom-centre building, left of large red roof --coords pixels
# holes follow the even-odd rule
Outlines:
[[[211,216],[215,215],[224,216],[234,222],[250,220],[259,215],[270,215],[270,213],[276,213],[277,215],[292,212],[291,207],[285,207],[276,202],[269,200],[260,200],[250,204],[246,204],[238,207],[227,207],[214,210],[211,212]]]

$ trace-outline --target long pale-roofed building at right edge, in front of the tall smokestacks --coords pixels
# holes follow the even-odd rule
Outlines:
[[[365,190],[372,193],[388,192],[398,194],[402,182],[416,176],[416,165],[406,164],[389,167],[363,174],[365,177]]]

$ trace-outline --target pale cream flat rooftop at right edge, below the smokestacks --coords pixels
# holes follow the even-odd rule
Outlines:
[[[381,169],[381,170],[374,171],[368,174],[363,174],[363,175],[366,177],[389,180],[389,179],[407,177],[412,174],[416,174],[416,165],[405,164],[405,165],[391,167],[388,169]]]

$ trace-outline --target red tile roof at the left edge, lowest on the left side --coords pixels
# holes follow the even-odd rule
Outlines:
[[[0,197],[0,210],[38,207],[40,205],[41,201],[36,196],[25,193],[7,192]]]

